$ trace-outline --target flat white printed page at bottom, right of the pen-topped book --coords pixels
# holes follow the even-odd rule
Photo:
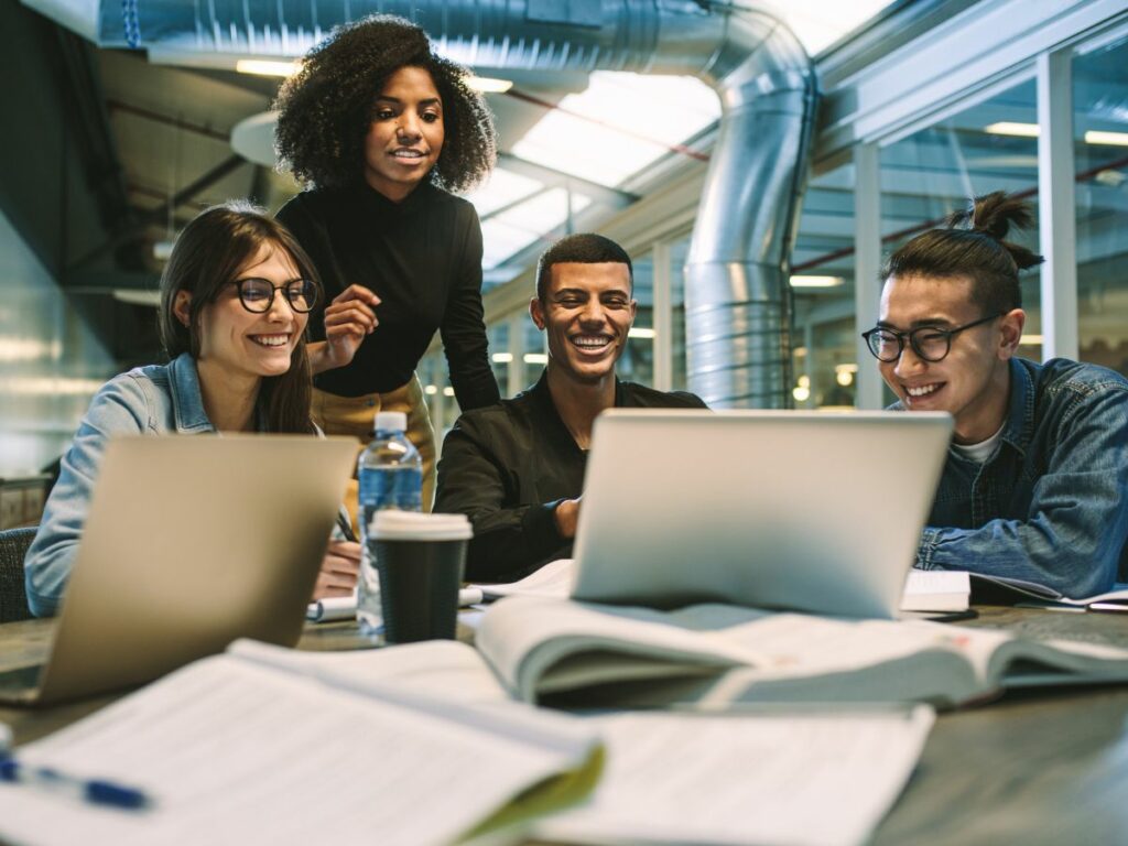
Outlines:
[[[607,768],[583,805],[536,835],[562,843],[865,843],[908,781],[931,708],[592,720]]]

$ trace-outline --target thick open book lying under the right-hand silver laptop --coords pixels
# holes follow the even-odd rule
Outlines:
[[[1006,687],[1128,680],[1128,650],[998,629],[700,605],[676,611],[509,597],[477,646],[527,702],[953,706]]]

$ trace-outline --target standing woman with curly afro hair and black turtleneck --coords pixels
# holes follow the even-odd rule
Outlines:
[[[476,185],[496,159],[490,112],[465,77],[417,26],[372,16],[310,51],[276,103],[280,159],[307,185],[277,217],[335,298],[310,320],[315,340],[328,336],[310,344],[315,420],[367,443],[376,412],[406,412],[428,510],[434,432],[415,368],[435,331],[461,411],[500,399],[486,356],[482,228],[474,206],[449,193]],[[350,323],[369,334],[337,367],[352,352],[355,332],[341,332]]]

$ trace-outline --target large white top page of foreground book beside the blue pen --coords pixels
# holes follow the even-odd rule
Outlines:
[[[27,763],[139,787],[151,810],[0,785],[0,837],[447,844],[530,785],[576,768],[590,749],[474,731],[221,655],[19,751]]]

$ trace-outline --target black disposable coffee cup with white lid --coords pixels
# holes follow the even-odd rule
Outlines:
[[[369,528],[386,643],[453,640],[473,535],[465,514],[378,511]]]

